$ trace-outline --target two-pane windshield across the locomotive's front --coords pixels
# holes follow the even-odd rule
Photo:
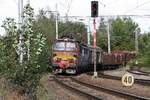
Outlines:
[[[56,42],[53,49],[57,51],[75,51],[77,50],[74,42]]]

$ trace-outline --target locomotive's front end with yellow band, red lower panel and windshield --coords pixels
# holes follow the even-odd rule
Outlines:
[[[57,40],[53,44],[52,68],[54,72],[76,74],[78,56],[78,45],[75,41]]]

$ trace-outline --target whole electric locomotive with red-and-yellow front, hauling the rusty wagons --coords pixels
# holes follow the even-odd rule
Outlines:
[[[63,38],[53,43],[52,68],[55,73],[76,74],[93,69],[94,48],[74,39]],[[103,51],[96,47],[97,65],[102,63]]]

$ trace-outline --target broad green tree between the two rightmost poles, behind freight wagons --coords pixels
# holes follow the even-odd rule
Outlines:
[[[111,43],[113,50],[135,50],[135,30],[138,25],[131,18],[117,18],[111,24]]]

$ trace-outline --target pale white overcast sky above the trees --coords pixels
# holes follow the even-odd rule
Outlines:
[[[23,0],[30,1],[35,14],[40,9],[55,11],[56,4],[60,16],[90,16],[92,0]],[[150,15],[150,0],[97,0],[99,16],[107,15]],[[0,26],[6,17],[18,20],[18,0],[0,0]],[[87,20],[87,19],[86,19]],[[142,32],[150,31],[150,16],[134,17]],[[0,34],[4,29],[0,27]]]

